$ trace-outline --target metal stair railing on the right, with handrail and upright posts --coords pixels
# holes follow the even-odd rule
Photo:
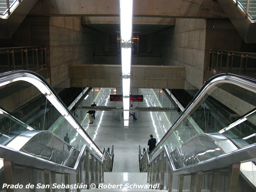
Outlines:
[[[139,146],[139,156],[140,152]],[[143,172],[148,172],[149,184],[156,185],[160,190],[166,186],[165,189],[169,192],[173,188],[180,192],[185,186],[188,187],[186,191],[193,192],[199,192],[207,187],[210,191],[236,192],[240,163],[250,162],[254,159],[256,159],[256,144],[176,169],[170,151],[164,145],[150,161],[146,150],[140,157],[140,167]],[[227,172],[227,177],[225,177],[225,183],[221,183],[220,177],[224,171]],[[190,185],[183,185],[183,183],[190,183]],[[221,184],[223,190],[219,189]]]

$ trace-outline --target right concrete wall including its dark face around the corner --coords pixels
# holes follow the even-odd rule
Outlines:
[[[210,49],[243,51],[248,47],[228,19],[176,19],[174,27],[148,36],[148,49],[162,56],[163,65],[186,67],[185,89],[203,85]]]

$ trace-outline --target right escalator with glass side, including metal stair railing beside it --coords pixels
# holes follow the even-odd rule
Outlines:
[[[140,172],[168,191],[256,191],[256,81],[209,79],[156,148],[139,149]]]

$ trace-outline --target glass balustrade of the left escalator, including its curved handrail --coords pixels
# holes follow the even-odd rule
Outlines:
[[[47,82],[40,78],[29,71],[0,75],[0,108],[3,109],[0,144],[6,145],[24,131],[50,131],[79,151],[85,144],[102,156],[79,124],[78,115],[73,117],[52,88],[47,87]]]

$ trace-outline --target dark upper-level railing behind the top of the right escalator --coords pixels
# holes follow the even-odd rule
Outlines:
[[[214,74],[235,73],[255,78],[256,53],[210,50],[208,70]]]

